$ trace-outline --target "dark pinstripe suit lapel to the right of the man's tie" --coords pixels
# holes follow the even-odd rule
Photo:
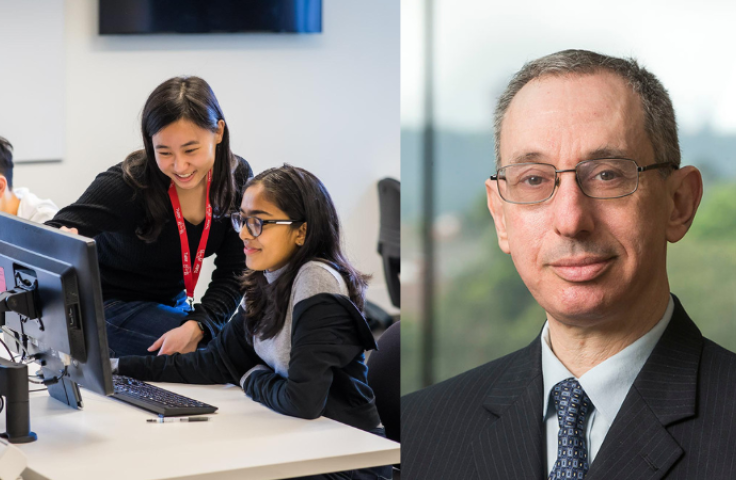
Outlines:
[[[634,381],[586,480],[663,478],[683,450],[666,427],[695,415],[703,337],[677,297],[672,320]]]

